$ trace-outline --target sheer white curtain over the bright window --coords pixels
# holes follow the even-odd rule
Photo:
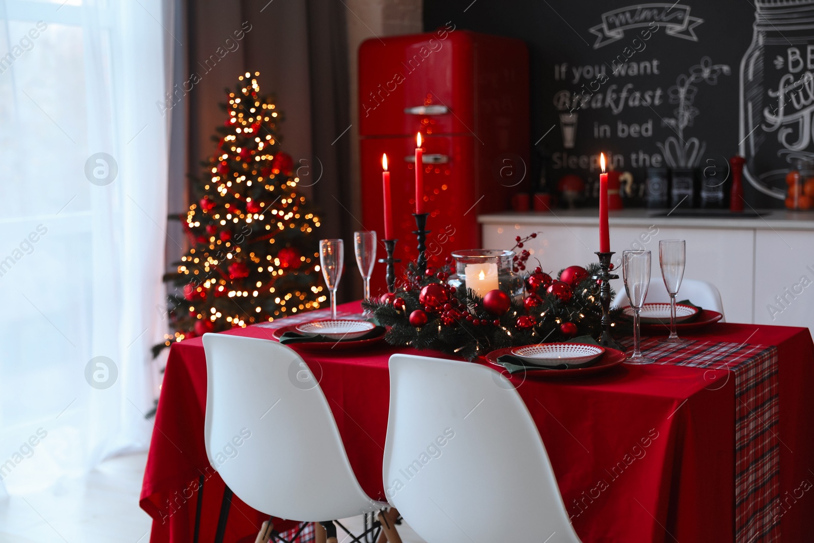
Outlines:
[[[170,11],[0,0],[0,494],[149,444]]]

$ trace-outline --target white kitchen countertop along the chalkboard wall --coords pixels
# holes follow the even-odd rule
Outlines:
[[[681,226],[687,228],[755,229],[755,230],[812,230],[814,212],[786,209],[758,210],[760,217],[676,217],[688,210],[632,208],[609,213],[610,226]],[[692,211],[692,210],[689,210]],[[698,210],[702,211],[702,210]],[[746,212],[752,212],[746,209]],[[554,212],[502,212],[479,215],[482,225],[567,225],[596,226],[597,208],[557,209]]]

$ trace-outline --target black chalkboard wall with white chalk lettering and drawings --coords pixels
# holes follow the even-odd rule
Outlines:
[[[648,167],[725,175],[741,154],[747,202],[772,208],[783,204],[790,164],[814,156],[814,33],[799,23],[814,8],[790,0],[772,13],[772,3],[757,2],[758,26],[768,28],[759,44],[755,4],[742,0],[426,0],[424,25],[452,21],[527,43],[535,182],[544,164],[549,189],[576,173],[590,199],[605,151],[633,174],[636,205]]]

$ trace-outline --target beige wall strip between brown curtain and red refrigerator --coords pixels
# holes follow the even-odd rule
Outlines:
[[[422,31],[422,0],[345,0],[348,7],[348,54],[351,87],[351,212],[361,217],[359,173],[358,50],[369,37],[415,34]]]

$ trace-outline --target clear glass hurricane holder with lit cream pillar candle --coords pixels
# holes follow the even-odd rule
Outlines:
[[[499,249],[453,252],[455,273],[448,282],[455,288],[470,288],[480,297],[500,289],[519,300],[523,296],[523,280],[512,272],[513,257],[513,251]]]

